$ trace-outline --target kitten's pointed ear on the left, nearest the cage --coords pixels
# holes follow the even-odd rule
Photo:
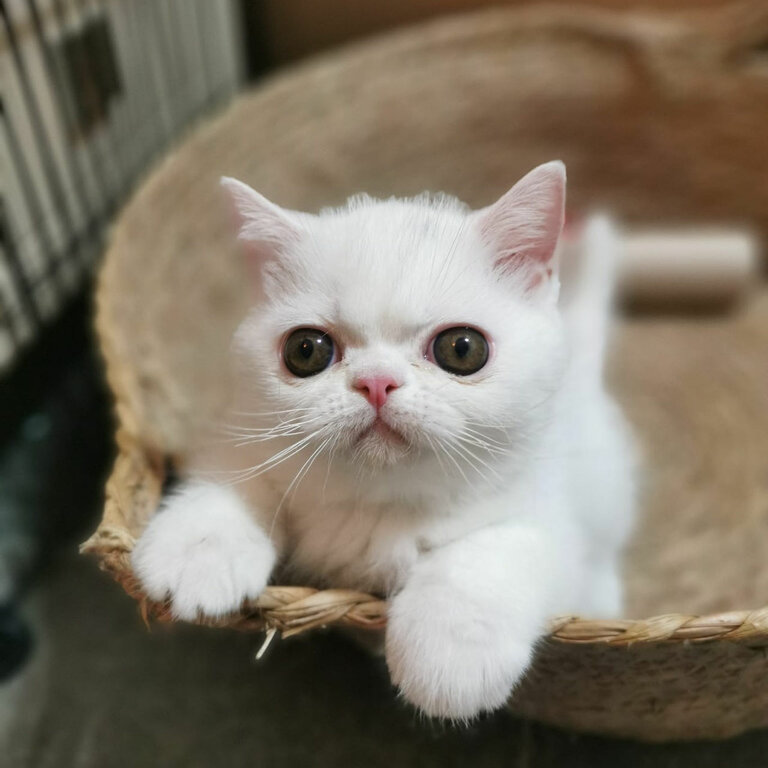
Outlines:
[[[291,211],[267,200],[242,181],[222,176],[221,186],[232,203],[237,238],[260,266],[301,235],[301,225]]]

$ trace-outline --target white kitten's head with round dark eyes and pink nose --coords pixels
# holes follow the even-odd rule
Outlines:
[[[314,216],[222,183],[258,295],[237,348],[274,434],[307,457],[467,475],[535,435],[563,361],[562,163],[479,211],[356,197]]]

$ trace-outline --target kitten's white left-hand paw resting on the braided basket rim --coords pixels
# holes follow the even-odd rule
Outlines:
[[[173,615],[192,620],[237,610],[258,597],[275,563],[275,548],[229,488],[184,486],[150,520],[132,555],[153,600],[170,596]]]

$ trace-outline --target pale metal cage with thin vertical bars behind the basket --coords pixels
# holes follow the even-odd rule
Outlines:
[[[0,376],[137,177],[243,76],[234,0],[0,0]]]

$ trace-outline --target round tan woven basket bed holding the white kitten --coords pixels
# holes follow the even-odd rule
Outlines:
[[[226,408],[248,301],[218,178],[315,210],[367,190],[473,205],[565,160],[571,206],[626,221],[768,230],[768,78],[739,13],[573,8],[440,20],[282,74],[199,126],[119,217],[97,292],[118,455],[83,545],[140,601],[130,552],[169,474]],[[765,66],[764,63],[762,65]],[[734,120],[734,115],[739,120]],[[627,619],[560,617],[512,711],[649,740],[768,725],[768,293],[727,316],[625,319],[609,383],[649,465],[626,561]],[[385,603],[270,586],[216,626],[381,631]]]

